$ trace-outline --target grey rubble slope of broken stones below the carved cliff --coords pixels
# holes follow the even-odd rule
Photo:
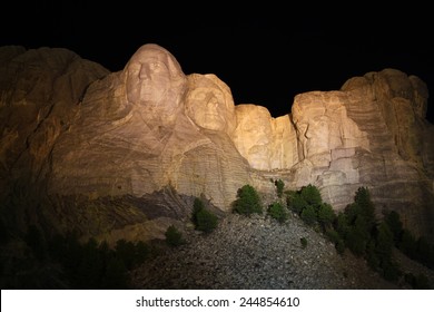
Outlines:
[[[137,289],[400,289],[349,252],[338,255],[296,216],[279,224],[266,215],[228,214],[204,235],[167,247],[131,272]],[[302,244],[306,240],[306,245]]]

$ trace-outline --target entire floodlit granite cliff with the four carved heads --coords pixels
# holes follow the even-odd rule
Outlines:
[[[297,95],[275,118],[234,104],[213,74],[186,76],[152,43],[118,72],[65,49],[3,47],[0,72],[1,199],[8,209],[45,198],[45,212],[26,208],[21,223],[154,238],[195,196],[227,212],[243,185],[266,194],[282,178],[290,189],[316,185],[335,209],[366,186],[378,214],[396,209],[434,235],[434,128],[415,76],[368,72]]]

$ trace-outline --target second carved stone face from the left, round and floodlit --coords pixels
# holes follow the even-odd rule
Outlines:
[[[235,106],[229,89],[214,75],[191,74],[186,114],[201,128],[230,133],[235,127]]]

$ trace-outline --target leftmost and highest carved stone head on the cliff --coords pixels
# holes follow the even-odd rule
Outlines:
[[[187,82],[175,57],[157,45],[145,45],[124,72],[127,99],[145,121],[151,127],[171,125],[183,109]]]

